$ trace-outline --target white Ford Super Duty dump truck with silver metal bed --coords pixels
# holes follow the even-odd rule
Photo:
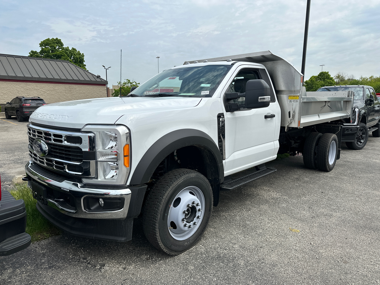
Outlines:
[[[125,97],[38,108],[24,179],[63,231],[129,241],[142,217],[149,242],[177,255],[203,235],[220,189],[273,173],[277,154],[331,171],[358,131],[352,102],[351,91],[305,92],[270,51],[186,61]]]

